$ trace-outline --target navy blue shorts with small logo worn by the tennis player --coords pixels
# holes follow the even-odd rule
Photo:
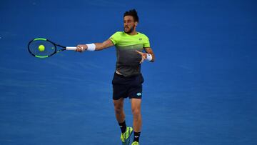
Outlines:
[[[138,74],[136,76],[125,77],[120,74],[114,73],[113,84],[113,99],[118,100],[121,98],[142,98],[142,84],[143,76]]]

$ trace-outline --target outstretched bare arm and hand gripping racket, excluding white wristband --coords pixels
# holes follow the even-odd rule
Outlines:
[[[114,43],[110,39],[107,39],[102,43],[94,43],[94,45],[96,46],[95,51],[100,51],[103,49],[107,49],[111,46],[114,46]],[[86,44],[79,44],[76,47],[77,47],[76,51],[79,51],[79,52],[83,52],[88,49],[88,46]]]

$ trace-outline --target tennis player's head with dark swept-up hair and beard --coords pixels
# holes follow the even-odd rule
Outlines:
[[[135,9],[131,9],[124,13],[124,31],[126,34],[131,34],[136,31],[138,24],[138,15]]]

